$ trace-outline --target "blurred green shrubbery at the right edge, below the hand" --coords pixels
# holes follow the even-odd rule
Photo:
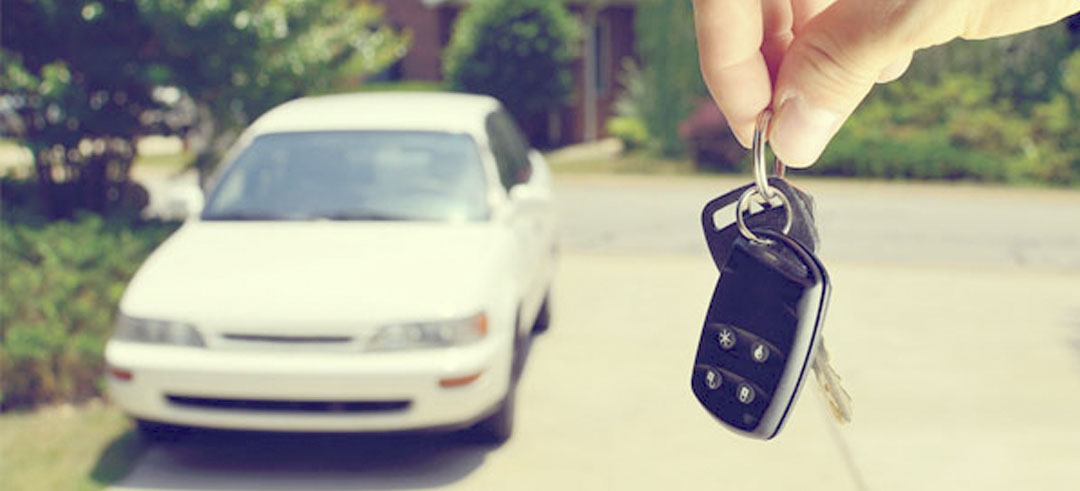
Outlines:
[[[877,87],[811,173],[1080,182],[1080,51],[1064,24],[916,56]]]

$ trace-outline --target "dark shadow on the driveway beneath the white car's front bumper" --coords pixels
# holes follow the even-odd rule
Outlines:
[[[132,446],[145,448],[138,452]],[[103,453],[94,478],[116,482],[117,465],[110,461],[130,455],[135,462],[126,477],[116,482],[120,489],[436,488],[463,479],[495,448],[453,434],[199,431],[176,441],[145,444],[127,433]]]

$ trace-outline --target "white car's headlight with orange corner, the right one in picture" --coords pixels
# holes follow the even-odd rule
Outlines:
[[[370,351],[413,350],[469,344],[487,336],[487,315],[437,323],[383,326],[372,338]]]

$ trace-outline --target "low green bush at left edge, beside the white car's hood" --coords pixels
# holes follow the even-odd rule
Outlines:
[[[176,226],[11,217],[0,221],[0,410],[96,396],[124,286]]]

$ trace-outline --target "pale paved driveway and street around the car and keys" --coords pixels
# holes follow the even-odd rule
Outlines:
[[[697,210],[734,181],[562,178],[565,255],[514,438],[206,435],[129,489],[1075,489],[1080,193],[812,181],[855,403],[814,390],[770,442],[697,407],[689,363],[716,272]],[[1053,227],[1051,227],[1053,226]]]

